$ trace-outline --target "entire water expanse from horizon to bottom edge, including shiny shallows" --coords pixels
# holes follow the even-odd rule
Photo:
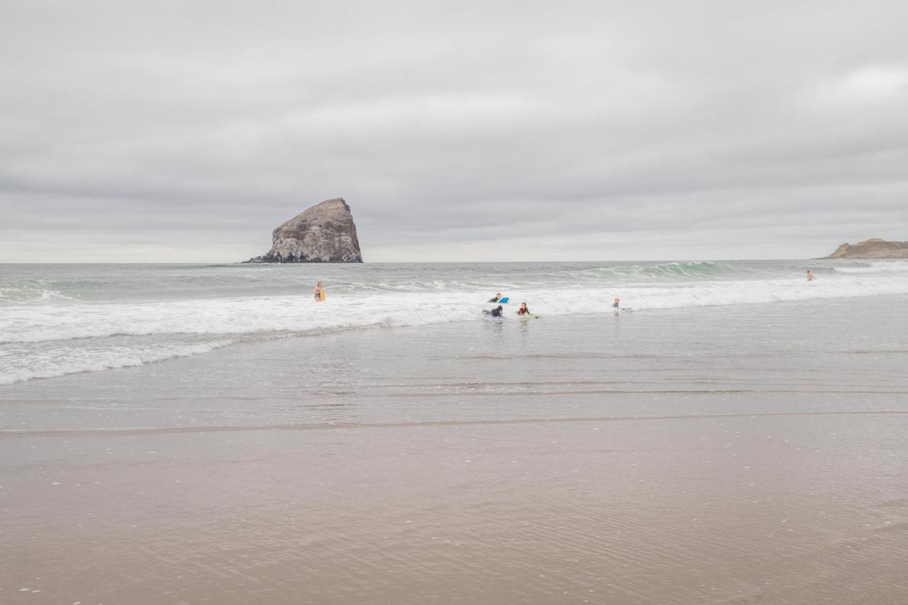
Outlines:
[[[0,301],[3,603],[908,602],[903,261],[0,265]]]

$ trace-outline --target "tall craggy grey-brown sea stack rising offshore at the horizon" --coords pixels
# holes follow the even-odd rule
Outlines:
[[[246,263],[362,263],[350,206],[338,197],[312,206],[271,233],[271,250]]]

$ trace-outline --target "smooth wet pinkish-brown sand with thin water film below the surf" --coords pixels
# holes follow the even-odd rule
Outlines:
[[[903,302],[354,331],[4,387],[0,602],[903,603]]]

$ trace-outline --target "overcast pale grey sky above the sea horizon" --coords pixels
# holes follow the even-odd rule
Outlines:
[[[0,3],[0,263],[233,262],[343,197],[367,262],[908,240],[908,3]]]

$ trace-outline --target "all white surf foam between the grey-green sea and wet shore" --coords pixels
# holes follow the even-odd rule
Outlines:
[[[680,269],[678,268],[680,266]],[[718,271],[711,263],[666,263],[647,279],[618,279],[606,272],[572,287],[544,287],[533,281],[495,289],[510,296],[506,316],[517,304],[548,316],[611,312],[620,296],[637,311],[785,301],[809,301],[882,294],[908,294],[908,262],[836,265],[807,283],[801,274],[758,273],[732,277],[668,279],[660,272]],[[849,270],[849,271],[845,271]],[[587,270],[581,270],[586,272]],[[598,270],[593,270],[598,271]],[[637,271],[636,269],[634,271]],[[614,272],[612,272],[614,273]],[[459,291],[449,289],[459,283]],[[563,279],[562,283],[568,283]],[[311,295],[233,296],[146,302],[54,302],[0,306],[0,383],[72,372],[121,368],[209,352],[250,334],[307,333],[372,325],[405,326],[479,319],[491,292],[469,280],[439,282],[439,289],[395,292],[376,285],[328,291],[326,302]],[[247,335],[247,336],[244,336]]]

